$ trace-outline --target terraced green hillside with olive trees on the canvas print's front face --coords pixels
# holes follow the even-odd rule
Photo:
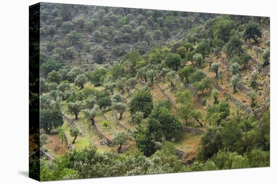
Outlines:
[[[269,165],[268,18],[41,10],[41,149],[67,169],[55,179]]]

